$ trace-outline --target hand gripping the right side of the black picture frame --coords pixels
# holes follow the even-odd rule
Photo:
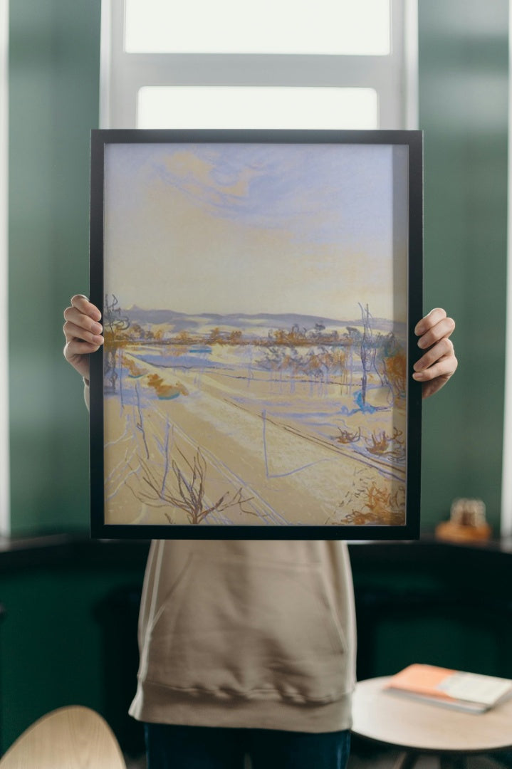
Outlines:
[[[423,398],[441,390],[457,369],[458,361],[450,340],[454,328],[455,321],[439,307],[421,318],[414,328],[414,334],[419,337],[417,346],[425,351],[413,366],[413,379],[421,382]]]

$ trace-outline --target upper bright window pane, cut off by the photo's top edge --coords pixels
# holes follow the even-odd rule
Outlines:
[[[390,0],[125,2],[128,53],[390,52]]]

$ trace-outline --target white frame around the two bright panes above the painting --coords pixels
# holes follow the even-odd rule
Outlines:
[[[379,128],[417,128],[417,0],[391,0],[385,56],[125,53],[124,28],[125,0],[103,0],[101,128],[136,128],[139,88],[158,85],[374,88]]]

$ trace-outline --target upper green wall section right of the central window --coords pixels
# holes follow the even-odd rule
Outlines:
[[[504,407],[508,2],[420,0],[424,300],[457,321],[457,375],[424,406],[422,521],[457,497],[497,533]]]

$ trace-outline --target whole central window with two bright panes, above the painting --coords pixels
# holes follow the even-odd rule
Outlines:
[[[103,0],[101,127],[415,128],[415,3]]]

